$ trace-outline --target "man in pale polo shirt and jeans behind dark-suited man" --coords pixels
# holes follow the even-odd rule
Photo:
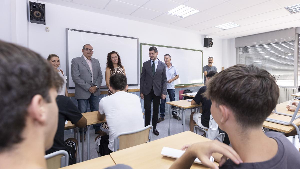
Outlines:
[[[175,101],[175,80],[179,78],[179,74],[176,66],[173,66],[171,63],[171,55],[165,54],[165,63],[166,63],[166,73],[168,80],[167,92],[170,97],[170,101]],[[158,123],[165,120],[165,107],[166,107],[166,99],[161,99],[161,117],[158,119]],[[172,106],[174,108],[175,106]],[[180,117],[176,114],[176,112],[172,112],[173,118],[181,120]]]

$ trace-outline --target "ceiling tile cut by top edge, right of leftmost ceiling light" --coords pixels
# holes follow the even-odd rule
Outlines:
[[[189,0],[187,2],[184,3],[184,5],[187,5],[189,7],[198,9],[200,11],[204,11],[205,9],[214,7],[216,5],[219,5],[221,3],[223,3],[223,0]]]

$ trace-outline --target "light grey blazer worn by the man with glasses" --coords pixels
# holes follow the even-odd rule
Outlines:
[[[100,87],[102,83],[102,71],[100,67],[100,63],[98,59],[91,58],[93,72],[91,72],[88,63],[84,56],[75,57],[72,59],[72,78],[75,83],[75,98],[76,99],[88,99],[91,97],[91,92],[88,91],[91,86],[97,85]],[[93,74],[92,74],[93,73]],[[94,75],[94,80],[92,79],[92,75]],[[93,84],[92,84],[93,80]],[[94,93],[95,96],[100,95],[100,90]]]

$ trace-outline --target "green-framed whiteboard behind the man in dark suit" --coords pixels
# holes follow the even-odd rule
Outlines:
[[[151,46],[158,49],[158,59],[162,62],[164,62],[165,54],[171,55],[171,63],[179,72],[179,78],[175,80],[176,86],[203,83],[201,50],[141,43],[141,68],[143,63],[150,59],[149,48]]]

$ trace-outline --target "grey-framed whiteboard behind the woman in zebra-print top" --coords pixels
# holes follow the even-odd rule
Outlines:
[[[112,35],[98,32],[89,32],[77,29],[66,28],[66,57],[67,57],[67,87],[75,88],[72,79],[71,65],[72,59],[82,56],[82,47],[85,44],[91,44],[94,48],[93,58],[100,62],[103,80],[101,87],[106,87],[105,70],[107,54],[111,51],[119,53],[122,65],[125,68],[127,84],[130,86],[138,85],[138,45],[139,39],[127,36]]]

